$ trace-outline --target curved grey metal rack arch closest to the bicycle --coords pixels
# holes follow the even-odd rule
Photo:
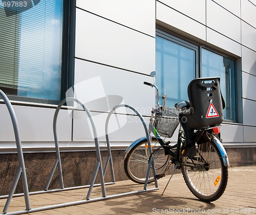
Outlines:
[[[150,134],[148,133],[148,130],[147,130],[147,127],[146,127],[146,123],[143,119],[143,117],[141,116],[141,114],[132,106],[130,105],[127,105],[127,104],[119,104],[119,105],[116,105],[115,107],[113,107],[113,109],[110,111],[108,117],[106,118],[106,123],[105,123],[105,136],[106,136],[106,144],[108,145],[108,151],[109,151],[109,155],[111,156],[111,149],[110,149],[110,142],[109,142],[109,134],[108,134],[108,125],[109,125],[109,120],[110,120],[110,116],[113,114],[113,112],[118,109],[119,107],[127,107],[129,109],[131,109],[132,111],[134,111],[137,116],[140,118],[143,126],[144,126],[144,129],[145,129],[145,133],[146,133],[146,139],[147,139],[147,144],[148,145],[151,145],[151,142],[150,142]],[[152,148],[151,147],[148,147],[148,150],[150,150],[150,154],[152,155]],[[112,164],[112,159],[110,160],[111,161],[111,170],[112,170],[112,177],[114,177],[114,171],[113,171],[113,164]],[[106,163],[106,165],[108,165],[108,163]],[[148,162],[148,168],[147,168],[147,174],[146,174],[146,180],[145,180],[145,184],[144,184],[144,189],[146,189],[146,185],[147,185],[147,180],[148,180],[148,176],[150,174],[150,168],[151,168],[151,165],[152,165],[152,169],[153,169],[153,174],[154,176],[156,175],[156,169],[155,169],[155,163],[154,163],[154,159],[153,159],[153,156],[151,156],[150,158],[150,161]],[[155,186],[158,187],[158,183],[157,183],[157,179],[155,178]]]

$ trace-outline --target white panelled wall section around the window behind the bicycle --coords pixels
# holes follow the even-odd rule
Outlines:
[[[239,87],[243,111],[241,123],[224,122],[221,127],[226,146],[255,145],[254,80],[256,59],[255,2],[236,1],[165,1],[156,2],[157,23],[187,38],[241,58]],[[254,12],[253,12],[254,11]],[[239,65],[238,65],[239,68]],[[238,72],[240,74],[240,71]],[[240,77],[237,78],[239,84]]]

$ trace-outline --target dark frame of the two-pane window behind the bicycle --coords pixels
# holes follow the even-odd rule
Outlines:
[[[236,99],[236,110],[234,111],[234,114],[236,115],[236,120],[232,121],[229,119],[225,119],[223,122],[225,123],[234,123],[234,124],[242,124],[243,123],[243,104],[242,104],[242,69],[241,69],[241,58],[234,57],[234,55],[227,54],[226,52],[222,52],[222,50],[218,47],[210,47],[202,44],[199,41],[195,41],[190,38],[186,38],[182,35],[177,35],[175,32],[170,32],[170,30],[163,29],[161,26],[157,26],[156,28],[156,36],[160,36],[162,38],[165,38],[167,40],[170,40],[172,42],[175,42],[178,45],[184,46],[189,49],[193,49],[196,51],[196,78],[202,77],[202,49],[205,49],[207,51],[213,52],[215,54],[218,54],[220,56],[229,58],[234,61],[234,79],[235,79],[235,85],[234,85],[234,93],[235,93],[235,99]],[[219,51],[220,50],[220,51]]]

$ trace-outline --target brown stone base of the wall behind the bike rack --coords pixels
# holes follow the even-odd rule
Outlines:
[[[250,165],[256,163],[256,147],[253,148],[226,148],[230,166]],[[65,187],[88,185],[96,166],[96,152],[63,152],[61,153],[62,173]],[[123,168],[123,150],[113,150],[115,180],[127,180]],[[102,151],[101,158],[104,164],[108,152]],[[56,160],[55,153],[27,153],[24,154],[29,191],[44,190],[51,170]],[[17,173],[17,154],[2,154],[0,156],[0,195],[8,195]],[[170,170],[173,168],[170,168]],[[170,170],[168,172],[170,172]],[[105,176],[105,182],[111,182],[110,167]],[[100,183],[97,176],[96,183]],[[58,169],[56,168],[49,189],[60,188]],[[22,181],[19,179],[15,193],[22,193]]]

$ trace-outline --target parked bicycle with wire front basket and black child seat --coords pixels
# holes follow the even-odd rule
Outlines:
[[[155,72],[151,76],[154,79]],[[154,135],[154,137],[151,136],[153,153],[150,155],[148,151],[146,137],[134,141],[126,149],[124,156],[124,170],[127,177],[136,183],[145,183],[148,160],[150,156],[153,156],[156,179],[164,177],[170,164],[174,164],[174,171],[177,168],[182,170],[187,187],[198,199],[211,202],[222,196],[227,185],[229,161],[218,138],[220,135],[219,125],[223,120],[222,110],[225,107],[219,89],[219,81],[218,77],[197,78],[191,81],[188,85],[189,101],[176,103],[176,111],[166,109],[166,94],[162,96],[164,102],[161,106],[157,86],[144,82],[144,84],[156,88],[157,93],[157,105],[152,109],[149,124],[149,131]],[[201,101],[199,102],[199,100]],[[202,105],[202,100],[208,103]],[[213,102],[215,102],[215,106]],[[205,114],[202,114],[203,111],[199,107],[202,105],[201,109],[205,109],[208,104],[205,119],[203,117]],[[165,142],[161,136],[172,137],[179,123],[178,141],[175,145],[170,145],[170,141]],[[148,183],[153,181],[151,168]]]

